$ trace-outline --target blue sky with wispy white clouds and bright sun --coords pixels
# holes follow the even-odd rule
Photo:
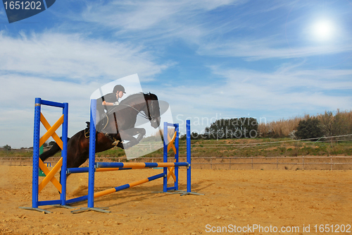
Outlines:
[[[11,24],[1,6],[0,42],[1,146],[32,146],[35,97],[68,102],[73,135],[92,92],[134,73],[198,132],[352,107],[348,0],[60,0]]]

